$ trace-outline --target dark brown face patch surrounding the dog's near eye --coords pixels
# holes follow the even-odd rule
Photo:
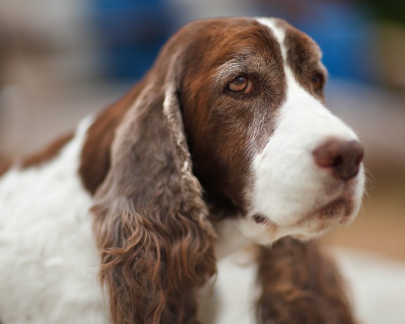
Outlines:
[[[208,195],[243,210],[251,159],[265,146],[286,95],[280,47],[253,19],[201,21],[194,28],[179,93],[194,172]],[[238,75],[254,84],[247,96],[227,90]]]

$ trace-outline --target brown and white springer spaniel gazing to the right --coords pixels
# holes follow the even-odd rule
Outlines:
[[[255,242],[258,322],[354,322],[308,241],[365,184],[320,59],[280,19],[190,23],[123,99],[4,170],[0,321],[198,323],[216,260]]]

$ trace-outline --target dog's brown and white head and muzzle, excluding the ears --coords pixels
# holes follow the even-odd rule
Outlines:
[[[245,235],[269,244],[349,223],[363,193],[363,151],[324,105],[316,43],[267,18],[199,21],[174,39],[194,172],[242,212]]]

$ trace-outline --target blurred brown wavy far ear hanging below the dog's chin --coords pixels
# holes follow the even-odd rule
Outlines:
[[[286,237],[258,249],[258,323],[355,323],[343,280],[316,242]]]

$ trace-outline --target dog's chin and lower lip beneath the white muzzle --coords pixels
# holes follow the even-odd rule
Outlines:
[[[247,216],[241,222],[241,231],[261,245],[271,245],[284,236],[307,241],[349,224],[357,212],[351,197],[339,197],[303,213],[299,221],[291,224],[277,224],[263,214]]]

